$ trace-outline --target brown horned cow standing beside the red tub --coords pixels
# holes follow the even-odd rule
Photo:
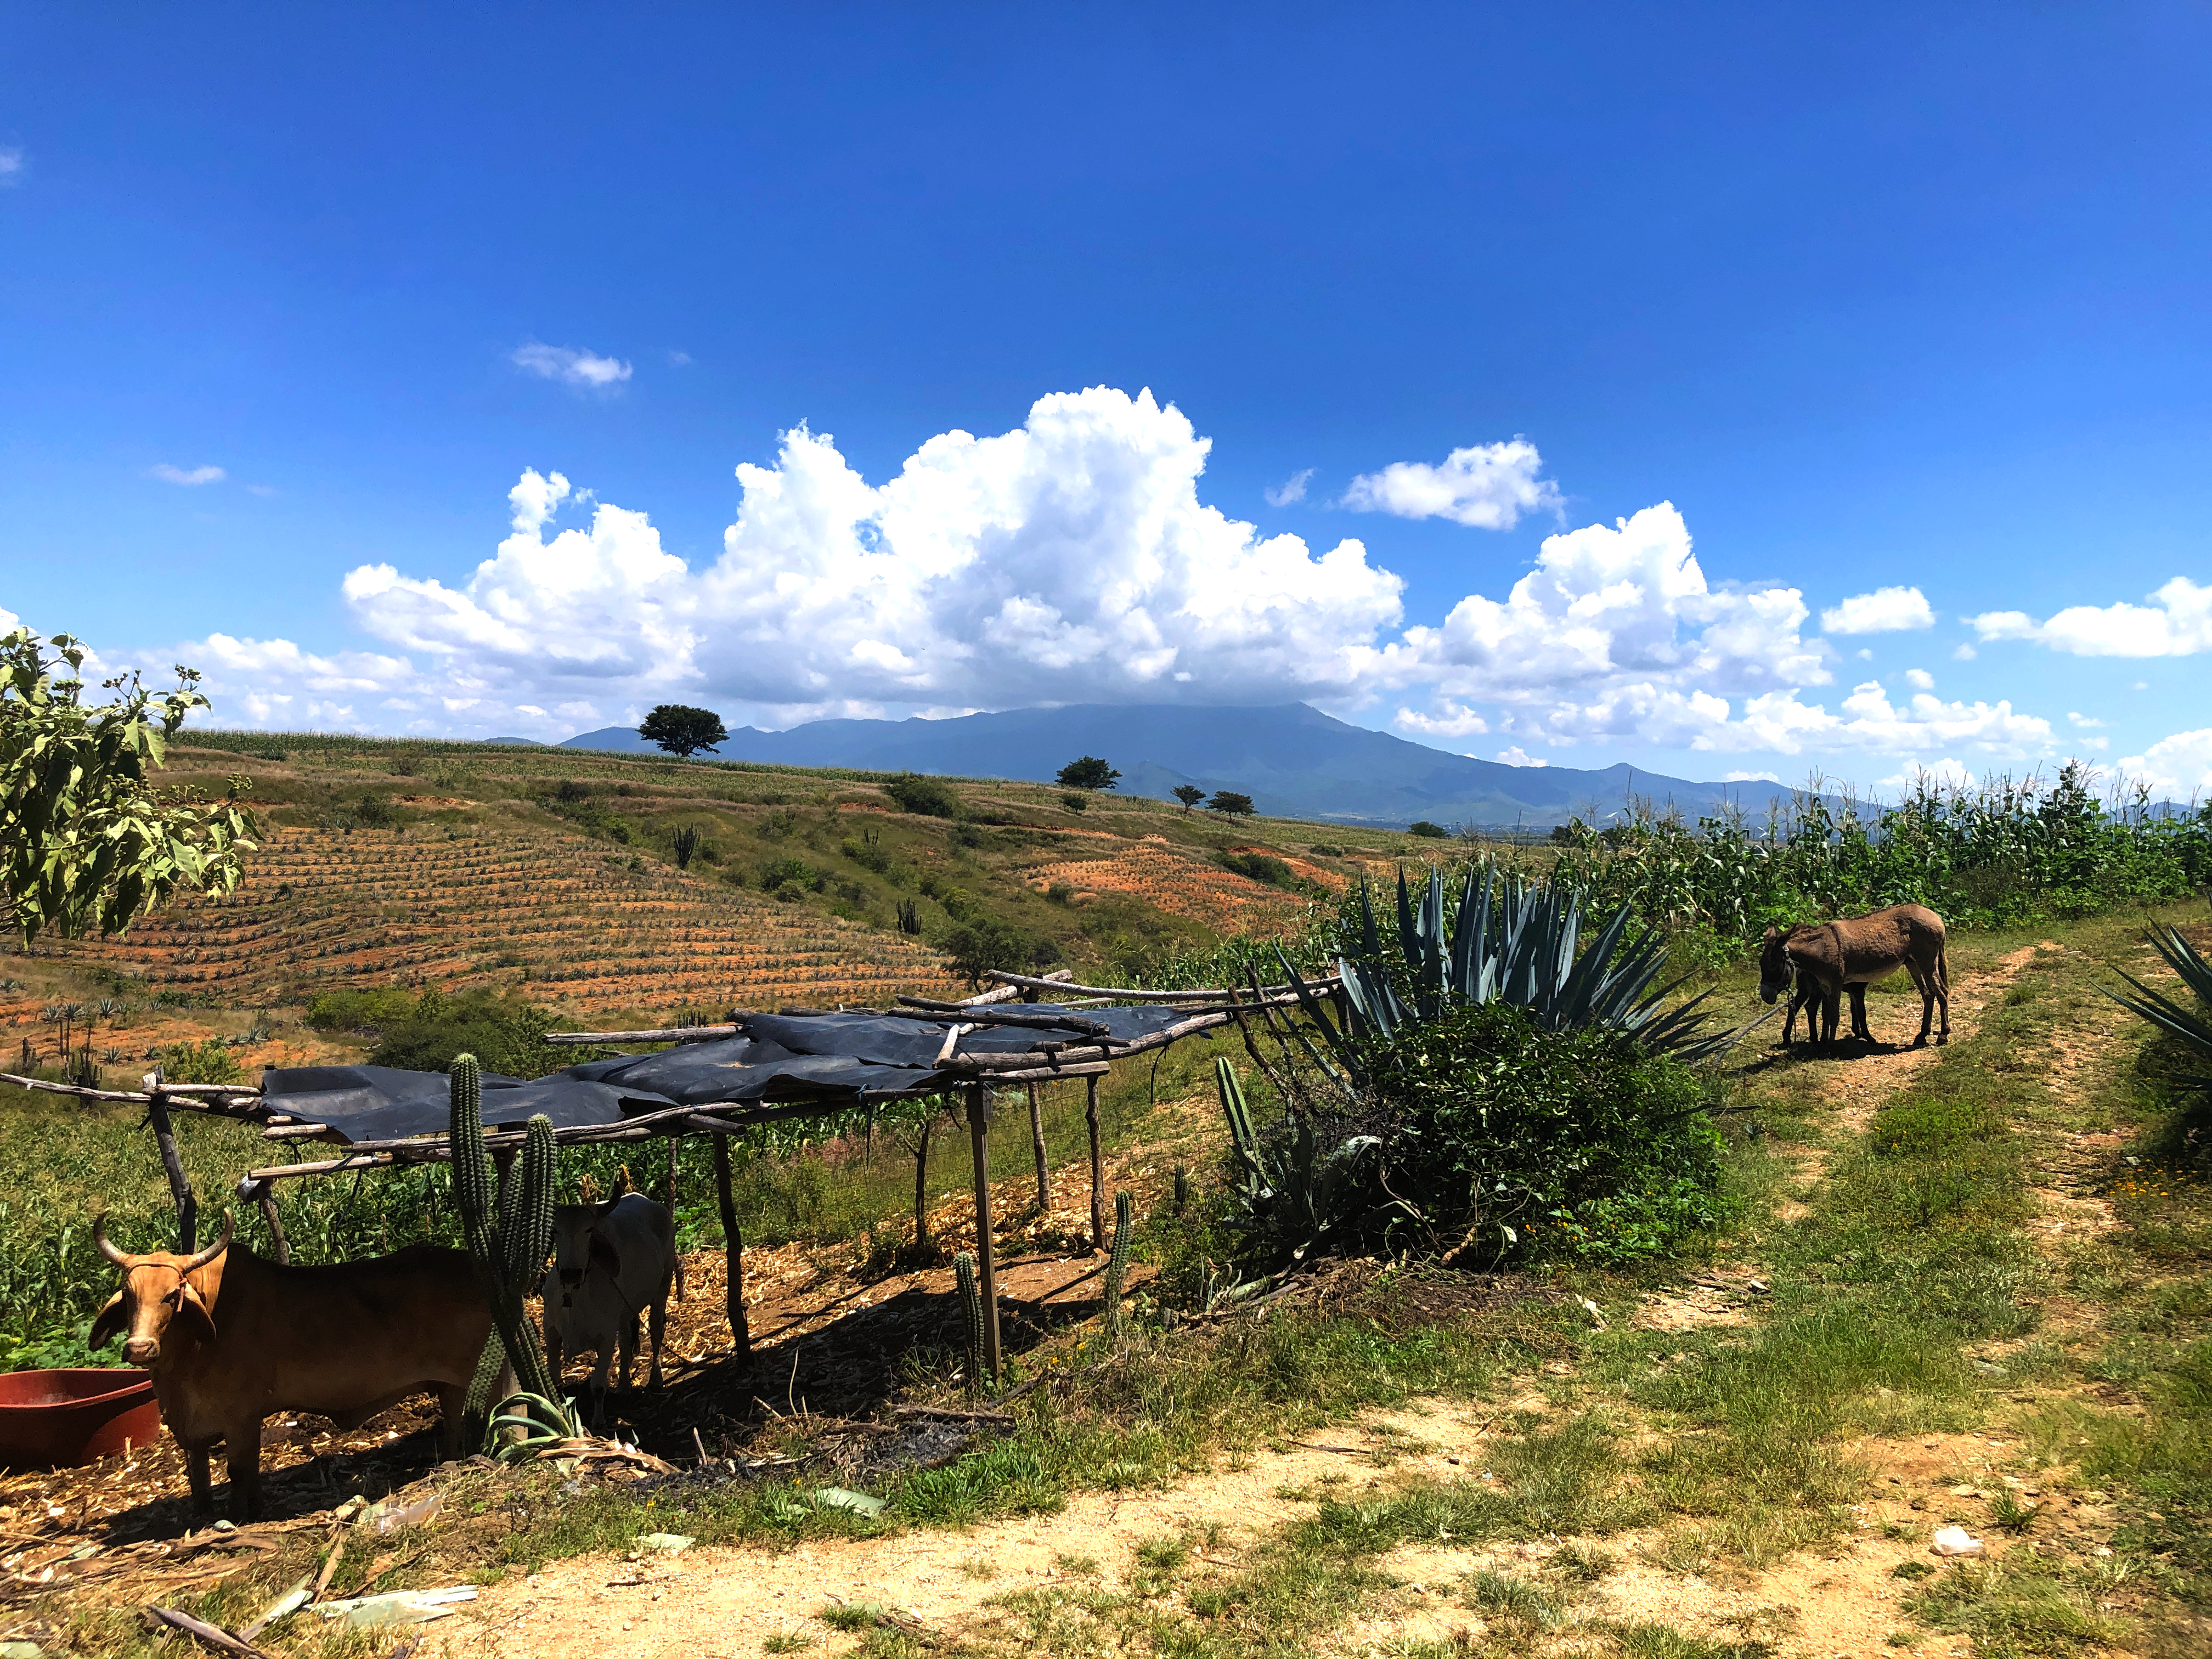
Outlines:
[[[465,1250],[411,1245],[334,1267],[279,1267],[223,1237],[181,1256],[131,1256],[93,1228],[124,1287],[93,1321],[91,1345],[128,1332],[124,1358],[153,1374],[161,1420],[184,1447],[192,1509],[215,1506],[208,1453],[228,1442],[230,1517],[261,1506],[261,1420],[312,1411],[358,1429],[409,1394],[445,1411],[442,1451],[460,1453],[462,1405],[491,1334],[491,1303]],[[513,1385],[502,1376],[500,1394]]]

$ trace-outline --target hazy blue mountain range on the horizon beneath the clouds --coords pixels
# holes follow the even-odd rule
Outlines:
[[[518,743],[526,739],[491,739]],[[657,752],[628,726],[580,732],[560,748]],[[1688,816],[1743,807],[1763,816],[1774,783],[1694,783],[1630,765],[1575,770],[1504,765],[1349,726],[1305,703],[1190,708],[1075,703],[1000,714],[905,721],[810,721],[785,732],[743,726],[714,759],[836,765],[863,772],[945,772],[1051,783],[1079,754],[1121,768],[1121,792],[1168,799],[1177,783],[1237,790],[1285,818],[1405,827],[1540,830],[1582,816],[1619,816],[1632,799]]]

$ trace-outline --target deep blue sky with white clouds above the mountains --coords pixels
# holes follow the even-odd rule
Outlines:
[[[248,726],[2212,783],[2201,7],[453,11],[9,9],[0,608]]]

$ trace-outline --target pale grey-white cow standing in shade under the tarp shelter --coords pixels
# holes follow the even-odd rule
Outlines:
[[[597,1354],[591,1396],[606,1396],[613,1360],[617,1385],[628,1391],[637,1360],[637,1314],[648,1312],[653,1387],[661,1385],[661,1329],[668,1323],[668,1285],[677,1274],[677,1225],[666,1203],[630,1192],[604,1203],[562,1203],[553,1210],[553,1265],[538,1294],[546,1310],[546,1356],[560,1376],[562,1356]]]

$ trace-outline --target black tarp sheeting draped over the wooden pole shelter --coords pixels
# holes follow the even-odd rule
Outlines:
[[[1188,1009],[1082,1009],[1018,1004],[1024,1015],[1066,1013],[1071,1022],[1106,1026],[1135,1042],[1188,1018]],[[619,1124],[670,1106],[745,1106],[818,1099],[823,1110],[858,1106],[865,1095],[898,1095],[953,1086],[964,1073],[940,1073],[938,1053],[958,1015],[896,1020],[869,1013],[750,1015],[745,1035],[686,1042],[650,1055],[586,1060],[538,1082],[484,1075],[484,1126],[520,1128],[544,1113],[553,1128]],[[962,1053],[1031,1053],[1040,1046],[1095,1042],[1082,1029],[975,1026]],[[263,1113],[281,1113],[352,1141],[436,1135],[449,1121],[442,1071],[389,1066],[294,1066],[261,1077]]]

